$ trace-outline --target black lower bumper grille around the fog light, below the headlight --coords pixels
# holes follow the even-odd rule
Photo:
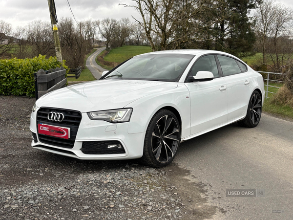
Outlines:
[[[121,148],[107,149],[108,145],[120,144]],[[84,154],[125,154],[119,141],[84,141],[80,149]]]

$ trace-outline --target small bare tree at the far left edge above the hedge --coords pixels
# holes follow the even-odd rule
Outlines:
[[[11,24],[0,20],[0,57],[12,48],[11,34]]]

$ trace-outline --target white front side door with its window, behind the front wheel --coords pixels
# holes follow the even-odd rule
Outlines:
[[[225,80],[220,77],[214,55],[200,57],[192,66],[189,76],[198,71],[210,71],[214,79],[205,82],[186,82],[190,94],[191,135],[227,122],[228,93]]]

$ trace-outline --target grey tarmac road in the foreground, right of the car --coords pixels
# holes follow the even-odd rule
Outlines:
[[[226,126],[182,143],[174,162],[203,186],[202,197],[217,207],[212,219],[293,219],[292,122],[263,114],[253,129]],[[231,198],[226,189],[261,189],[265,196]]]

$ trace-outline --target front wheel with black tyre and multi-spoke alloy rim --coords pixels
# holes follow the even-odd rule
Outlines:
[[[161,168],[170,164],[179,148],[181,128],[176,115],[169,110],[159,110],[149,122],[140,162]]]

